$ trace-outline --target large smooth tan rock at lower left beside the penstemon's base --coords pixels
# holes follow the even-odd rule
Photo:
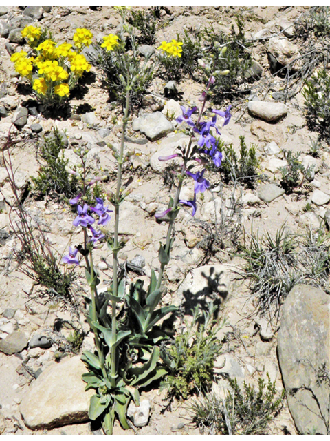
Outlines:
[[[87,369],[79,356],[47,367],[32,383],[20,405],[29,429],[50,429],[88,420],[89,400],[94,390],[85,392],[81,379]]]

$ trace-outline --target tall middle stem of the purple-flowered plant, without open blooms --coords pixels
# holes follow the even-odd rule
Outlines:
[[[126,84],[126,105],[124,111],[124,118],[122,119],[122,138],[120,142],[120,154],[118,158],[118,172],[117,172],[117,189],[115,192],[115,231],[113,235],[113,296],[118,296],[118,236],[119,236],[119,206],[120,206],[120,191],[122,188],[122,164],[124,163],[124,138],[126,132],[126,125],[129,116],[129,81]],[[111,347],[111,381],[115,382],[116,367],[116,352],[117,347],[115,342],[117,340],[117,318],[116,318],[115,301],[112,302],[111,311],[111,330],[112,330],[112,347]],[[113,384],[115,385],[115,384]]]

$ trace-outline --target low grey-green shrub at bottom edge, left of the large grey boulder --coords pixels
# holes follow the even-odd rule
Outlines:
[[[244,382],[243,391],[236,378],[228,378],[225,399],[214,393],[202,395],[190,407],[192,422],[206,435],[267,435],[267,425],[283,408],[285,391],[277,395],[275,382],[267,385],[259,378],[259,389]]]

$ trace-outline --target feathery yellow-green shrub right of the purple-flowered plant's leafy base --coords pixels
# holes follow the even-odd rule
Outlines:
[[[186,322],[186,332],[182,331],[170,345],[162,346],[161,357],[169,373],[161,385],[169,397],[186,400],[190,393],[212,382],[214,359],[221,349],[216,336],[220,326],[213,318],[214,311],[212,304],[203,314],[196,307],[192,324]]]

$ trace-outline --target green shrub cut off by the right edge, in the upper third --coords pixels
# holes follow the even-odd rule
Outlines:
[[[325,69],[318,71],[303,89],[307,126],[320,134],[320,139],[330,141],[330,76]]]

